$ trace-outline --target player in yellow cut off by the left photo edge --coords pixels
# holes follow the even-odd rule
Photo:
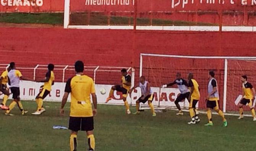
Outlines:
[[[8,68],[9,69],[9,68]],[[3,71],[1,77],[0,77],[0,90],[3,92],[3,102],[0,104],[1,109],[9,109],[8,106],[6,106],[6,102],[9,98],[9,88],[7,87],[8,83],[8,69]]]

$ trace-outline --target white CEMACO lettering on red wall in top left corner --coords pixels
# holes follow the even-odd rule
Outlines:
[[[3,6],[42,6],[43,0],[1,0]]]

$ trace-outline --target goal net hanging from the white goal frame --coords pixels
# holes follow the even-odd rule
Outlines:
[[[175,108],[175,98],[180,91],[177,86],[172,88],[160,88],[176,79],[180,72],[183,79],[187,80],[188,73],[193,73],[200,87],[201,98],[198,108],[205,109],[207,98],[207,85],[209,71],[215,71],[218,90],[220,94],[219,106],[226,111],[237,111],[235,101],[243,95],[241,76],[247,75],[248,81],[256,85],[254,75],[256,71],[256,57],[215,57],[215,56],[174,56],[141,54],[140,75],[144,75],[151,82],[154,91],[154,105],[159,107]],[[187,108],[189,103],[184,101],[181,106]]]

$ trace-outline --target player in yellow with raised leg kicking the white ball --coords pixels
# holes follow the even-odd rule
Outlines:
[[[126,113],[131,114],[130,106],[129,106],[128,102],[126,101],[127,94],[131,88],[131,75],[127,73],[126,69],[122,69],[121,74],[122,74],[122,80],[121,80],[122,83],[120,85],[114,85],[111,88],[111,90],[109,92],[109,97],[107,98],[106,103],[108,103],[112,99],[112,96],[114,95],[115,90],[117,90],[118,92],[122,92],[123,101],[125,103],[125,108],[126,108]]]

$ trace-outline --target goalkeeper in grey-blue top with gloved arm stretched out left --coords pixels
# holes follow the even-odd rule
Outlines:
[[[190,96],[190,90],[188,89],[188,82],[181,78],[181,74],[179,72],[177,73],[176,77],[177,79],[175,79],[174,82],[167,85],[162,85],[162,87],[171,87],[172,85],[177,84],[181,94],[178,95],[178,97],[174,101],[175,105],[179,110],[179,112],[176,115],[183,115],[179,102],[185,100],[186,98],[188,99],[188,96]]]

